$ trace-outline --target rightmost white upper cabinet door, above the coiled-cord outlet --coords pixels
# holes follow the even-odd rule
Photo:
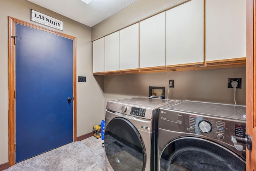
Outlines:
[[[246,0],[206,0],[206,61],[246,57]]]

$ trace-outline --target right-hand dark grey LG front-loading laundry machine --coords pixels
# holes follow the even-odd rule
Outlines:
[[[159,171],[245,171],[231,140],[246,136],[245,106],[182,101],[160,107],[158,127]]]

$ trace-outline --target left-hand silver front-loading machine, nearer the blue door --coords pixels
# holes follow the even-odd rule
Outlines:
[[[106,171],[157,169],[158,109],[174,102],[148,97],[108,101],[104,135]]]

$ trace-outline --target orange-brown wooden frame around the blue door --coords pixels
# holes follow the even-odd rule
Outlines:
[[[76,141],[76,37],[56,32],[36,24],[8,17],[8,133],[9,133],[9,167],[15,165],[15,24],[62,36],[73,40],[73,141]]]

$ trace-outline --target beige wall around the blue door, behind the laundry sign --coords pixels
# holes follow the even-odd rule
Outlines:
[[[103,78],[92,75],[91,28],[27,0],[0,0],[0,165],[8,162],[8,16],[31,22],[30,9],[62,20],[63,33],[77,38],[76,72],[86,76],[86,83],[76,87],[77,136],[92,132],[92,126],[104,119]]]

